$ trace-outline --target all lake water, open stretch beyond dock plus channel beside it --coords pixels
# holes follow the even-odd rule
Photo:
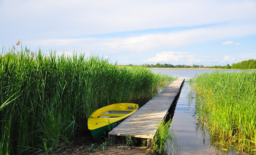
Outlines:
[[[193,78],[196,74],[212,73],[215,70],[202,69],[152,69],[155,73],[172,75],[174,77]],[[222,70],[221,70],[222,71]],[[242,70],[225,70],[227,72],[240,72]],[[194,116],[195,109],[195,91],[190,91],[188,79],[185,79],[181,89],[180,97],[172,119],[170,130],[176,132],[179,139],[180,148],[178,153],[181,155],[235,155],[237,150],[223,151],[222,148],[214,144],[214,140],[210,138],[207,129],[203,126],[196,125]],[[173,152],[173,151],[172,151]]]

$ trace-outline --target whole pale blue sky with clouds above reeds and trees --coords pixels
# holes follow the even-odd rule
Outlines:
[[[19,39],[119,65],[232,65],[256,59],[256,0],[0,0],[0,51]]]

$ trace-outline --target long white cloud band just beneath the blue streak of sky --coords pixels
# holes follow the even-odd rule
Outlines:
[[[104,53],[138,53],[159,50],[165,51],[223,38],[256,35],[255,27],[256,24],[225,25],[170,33],[143,34],[141,36],[126,38],[33,39],[23,40],[23,42],[30,42],[36,45],[36,47],[58,47],[65,50],[72,50],[70,48],[86,48],[88,50],[95,50],[96,52],[102,51]]]

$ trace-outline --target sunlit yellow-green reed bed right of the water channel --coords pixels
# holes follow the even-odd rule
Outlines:
[[[215,143],[256,153],[256,72],[197,75],[197,123],[206,123]]]

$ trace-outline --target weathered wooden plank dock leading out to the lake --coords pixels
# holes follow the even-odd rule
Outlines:
[[[148,144],[157,131],[159,124],[168,114],[168,110],[180,92],[184,78],[173,81],[165,90],[139,108],[109,132],[108,139],[115,142],[115,136],[146,138]]]

